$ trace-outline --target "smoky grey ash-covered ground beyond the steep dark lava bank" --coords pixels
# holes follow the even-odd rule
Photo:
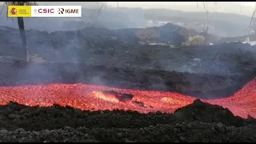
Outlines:
[[[173,24],[159,26],[159,37],[152,42],[170,46],[144,45],[136,33],[142,29],[106,30],[86,28],[48,33],[27,30],[30,54],[38,54],[48,62],[83,62],[86,65],[117,68],[166,70],[195,74],[240,74],[255,69],[256,49],[242,43],[213,46],[179,46],[185,38]],[[21,57],[18,30],[0,30],[1,55]],[[196,33],[195,33],[196,34]],[[200,59],[199,62],[194,58]],[[1,60],[2,58],[0,58]]]

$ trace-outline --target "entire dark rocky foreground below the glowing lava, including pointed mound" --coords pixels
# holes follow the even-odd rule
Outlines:
[[[195,100],[174,114],[82,111],[69,106],[0,106],[0,142],[255,142],[256,125]],[[194,112],[193,112],[194,111]],[[205,111],[205,112],[204,112]],[[229,111],[229,110],[227,110]],[[13,122],[8,114],[21,114]],[[177,114],[183,117],[177,118]],[[226,119],[225,115],[229,115]],[[191,118],[194,116],[194,118]],[[202,117],[202,118],[200,118]],[[222,118],[224,117],[224,120]],[[209,119],[212,118],[212,119]],[[234,123],[234,119],[242,125]]]

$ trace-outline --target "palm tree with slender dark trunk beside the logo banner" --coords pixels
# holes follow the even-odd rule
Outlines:
[[[4,2],[3,6],[37,6],[37,2]],[[2,10],[1,10],[2,14]],[[8,14],[8,9],[6,11],[6,14]],[[24,58],[26,58],[26,62],[29,62],[30,60],[30,54],[28,52],[28,47],[26,43],[26,33],[25,33],[25,25],[24,25],[24,18],[18,17],[18,29],[20,33],[20,37],[22,40],[22,50],[24,51]]]

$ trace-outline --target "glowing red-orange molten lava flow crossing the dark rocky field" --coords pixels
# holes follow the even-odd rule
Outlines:
[[[195,98],[171,92],[126,90],[84,84],[50,84],[46,86],[0,87],[0,105],[10,101],[26,106],[73,106],[82,110],[137,110],[174,112]],[[249,82],[230,98],[203,100],[230,109],[235,115],[256,118],[256,79]]]

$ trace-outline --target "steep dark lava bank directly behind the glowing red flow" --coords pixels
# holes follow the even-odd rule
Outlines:
[[[173,91],[203,99],[229,97],[256,76],[256,70],[211,75],[55,62],[0,62],[0,67],[4,68],[0,70],[0,86],[83,83],[120,89]]]

